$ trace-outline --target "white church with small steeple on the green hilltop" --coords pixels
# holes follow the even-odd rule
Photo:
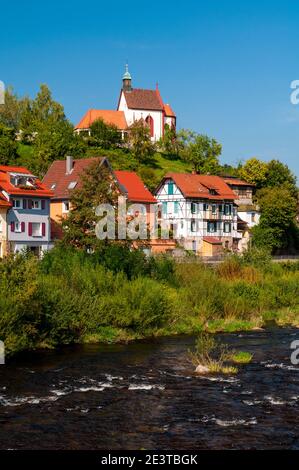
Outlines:
[[[75,131],[90,134],[90,126],[97,119],[103,119],[106,124],[114,124],[123,138],[129,126],[135,121],[143,120],[148,125],[154,142],[163,138],[166,124],[172,129],[176,128],[176,115],[171,106],[163,102],[158,85],[155,90],[133,88],[127,65],[117,110],[90,109],[75,127]]]

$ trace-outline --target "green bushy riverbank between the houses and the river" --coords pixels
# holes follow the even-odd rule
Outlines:
[[[0,263],[6,354],[72,343],[299,325],[299,263],[261,252],[218,266],[175,264],[126,247],[55,248]]]

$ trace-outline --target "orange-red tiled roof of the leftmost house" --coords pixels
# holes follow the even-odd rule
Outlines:
[[[0,188],[8,194],[19,195],[19,196],[39,196],[39,197],[51,197],[53,196],[46,185],[41,183],[39,179],[35,180],[36,188],[24,189],[14,186],[10,182],[9,173],[21,173],[25,175],[31,175],[31,172],[27,168],[21,166],[5,166],[0,165]]]

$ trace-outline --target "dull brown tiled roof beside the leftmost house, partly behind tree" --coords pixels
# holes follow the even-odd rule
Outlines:
[[[73,160],[73,170],[68,174],[66,173],[66,160],[53,162],[43,179],[49,188],[53,188],[53,199],[68,199],[71,191],[69,184],[76,181],[75,188],[80,187],[82,173],[96,160],[105,160],[105,157]],[[53,187],[54,184],[55,187]]]

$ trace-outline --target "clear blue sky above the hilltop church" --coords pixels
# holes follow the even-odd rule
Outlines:
[[[57,1],[1,5],[0,80],[47,83],[69,119],[114,109],[126,60],[178,126],[215,137],[223,163],[279,158],[299,176],[299,2]]]

